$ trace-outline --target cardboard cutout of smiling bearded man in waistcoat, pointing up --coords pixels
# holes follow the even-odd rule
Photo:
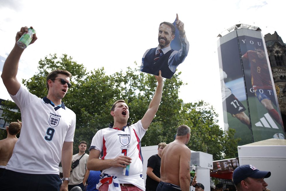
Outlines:
[[[182,48],[179,51],[171,48],[176,28],[172,23],[162,22],[158,33],[159,45],[144,53],[140,66],[141,72],[158,75],[161,70],[162,77],[170,79],[175,74],[177,66],[184,61],[189,52],[189,42],[186,38],[184,23],[179,20],[178,14],[176,21]]]

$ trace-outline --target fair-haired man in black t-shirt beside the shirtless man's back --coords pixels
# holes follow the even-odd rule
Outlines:
[[[161,153],[166,143],[158,144],[158,154],[152,155],[147,163],[146,191],[156,191],[160,182]]]

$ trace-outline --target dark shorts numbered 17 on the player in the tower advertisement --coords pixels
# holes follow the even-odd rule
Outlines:
[[[244,112],[246,110],[242,103],[233,94],[227,97],[224,102],[226,103],[226,111],[232,115]]]

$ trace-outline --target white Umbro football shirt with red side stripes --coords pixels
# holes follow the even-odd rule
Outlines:
[[[92,139],[90,150],[96,149],[101,152],[101,160],[113,159],[120,155],[126,155],[132,158],[130,163],[129,177],[142,178],[143,156],[141,151],[141,139],[146,130],[143,128],[141,120],[137,123],[125,126],[123,130],[116,130],[111,126],[98,130]],[[102,170],[102,174],[117,176],[119,182],[120,177],[128,179],[128,176],[122,175],[121,167],[111,167]],[[126,183],[126,181],[124,181]]]

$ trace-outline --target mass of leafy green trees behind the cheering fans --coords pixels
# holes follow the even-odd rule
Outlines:
[[[39,61],[38,72],[30,79],[23,79],[27,89],[37,95],[47,95],[46,76],[55,69],[71,72],[72,87],[69,89],[64,104],[76,114],[76,130],[74,136],[74,154],[78,152],[78,143],[86,141],[90,145],[95,133],[106,128],[113,119],[110,115],[111,106],[116,100],[123,99],[129,105],[130,123],[142,119],[149,107],[156,90],[157,81],[153,75],[139,72],[128,67],[126,71],[106,75],[104,68],[86,72],[82,64],[78,64],[63,54],[46,56]],[[224,156],[232,156],[237,143],[233,132],[225,135],[217,125],[217,114],[214,109],[203,101],[184,103],[179,99],[179,88],[184,85],[177,72],[172,79],[164,79],[161,105],[142,139],[142,146],[157,145],[159,142],[172,142],[177,127],[186,124],[191,128],[191,141],[188,146],[192,150],[213,155],[214,160]],[[10,105],[9,105],[10,104]],[[7,108],[15,107],[7,103]],[[5,119],[14,120],[20,113],[8,113]],[[228,145],[224,145],[228,144]]]

